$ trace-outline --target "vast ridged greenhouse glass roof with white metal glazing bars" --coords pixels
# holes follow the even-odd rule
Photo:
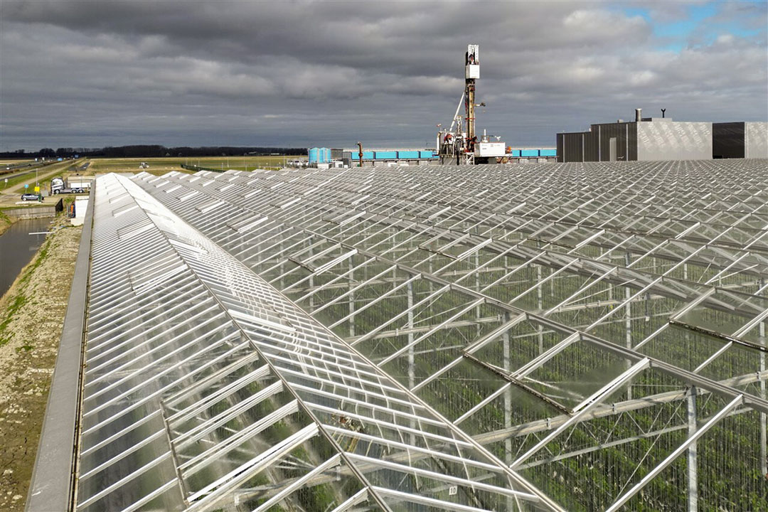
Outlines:
[[[750,510],[765,160],[97,180],[78,510]]]

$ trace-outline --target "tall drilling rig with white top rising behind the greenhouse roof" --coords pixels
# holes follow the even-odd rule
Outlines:
[[[464,93],[462,99],[458,101],[451,127],[438,132],[436,147],[439,148],[440,161],[442,164],[452,164],[454,161],[455,164],[487,164],[491,160],[495,163],[497,157],[505,156],[504,143],[489,142],[485,130],[479,141],[476,134],[475,107],[485,107],[485,103],[475,104],[475,81],[480,78],[480,47],[478,45],[467,46],[464,69]],[[462,116],[459,114],[462,103],[466,123],[464,131],[462,131],[464,125]]]

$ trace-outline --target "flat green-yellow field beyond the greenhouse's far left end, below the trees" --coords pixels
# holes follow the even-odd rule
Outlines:
[[[196,165],[210,167],[212,169],[275,169],[283,167],[286,160],[296,160],[306,155],[290,157],[163,157],[163,158],[91,158],[88,161],[88,173],[138,173],[146,170],[153,174],[164,174],[170,170],[184,172],[180,166]],[[139,165],[146,162],[148,169],[139,169]]]

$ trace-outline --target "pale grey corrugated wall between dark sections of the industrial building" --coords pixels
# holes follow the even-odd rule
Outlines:
[[[712,123],[653,121],[637,124],[637,160],[709,160]]]

